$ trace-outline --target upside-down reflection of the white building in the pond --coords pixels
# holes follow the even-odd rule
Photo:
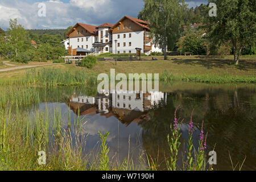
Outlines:
[[[101,90],[96,97],[77,96],[76,93],[69,98],[68,105],[74,113],[80,115],[101,114],[106,118],[116,117],[119,121],[129,126],[131,122],[139,123],[149,121],[147,111],[167,103],[167,93],[163,92],[123,92],[110,93]]]

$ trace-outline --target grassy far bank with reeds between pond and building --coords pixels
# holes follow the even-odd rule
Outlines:
[[[162,56],[156,56],[162,59]],[[172,57],[172,56],[171,56]],[[52,65],[47,68],[23,69],[0,73],[0,85],[71,86],[97,82],[97,75],[115,69],[115,73],[159,73],[159,80],[190,81],[205,83],[255,83],[256,61],[253,56],[245,56],[240,65],[232,61],[212,56],[174,56],[163,61],[97,61],[94,68],[82,68],[73,64]],[[143,57],[145,58],[145,57]],[[146,57],[147,58],[147,57]],[[55,69],[57,68],[57,69]],[[1,69],[1,65],[0,65]]]

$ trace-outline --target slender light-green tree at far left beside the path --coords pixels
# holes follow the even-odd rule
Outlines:
[[[26,47],[30,46],[27,31],[21,24],[17,24],[17,19],[10,19],[8,34],[8,43],[14,49],[13,51],[15,52],[16,57],[18,57],[18,52],[22,52]]]

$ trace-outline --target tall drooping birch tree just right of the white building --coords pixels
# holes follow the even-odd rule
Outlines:
[[[151,36],[154,44],[158,44],[167,60],[167,46],[172,49],[179,39],[181,23],[186,8],[184,0],[143,0],[143,19],[150,22]]]

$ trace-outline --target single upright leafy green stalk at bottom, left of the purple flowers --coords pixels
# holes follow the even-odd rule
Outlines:
[[[98,132],[98,135],[101,139],[101,154],[100,154],[100,166],[98,169],[100,171],[109,171],[109,147],[106,144],[106,139],[108,138],[109,132],[106,132],[102,134],[100,131]]]

